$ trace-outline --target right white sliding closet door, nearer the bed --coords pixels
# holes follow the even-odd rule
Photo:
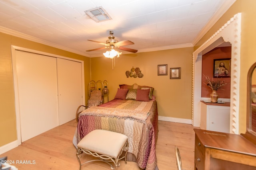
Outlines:
[[[59,125],[76,118],[82,105],[82,63],[57,58]]]

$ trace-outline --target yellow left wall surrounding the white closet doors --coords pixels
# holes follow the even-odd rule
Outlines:
[[[88,57],[4,33],[0,33],[0,37],[0,129],[2,129],[0,138],[1,147],[17,140],[11,45],[84,61],[85,84],[88,84],[90,81],[90,76],[88,76],[90,72],[90,59]]]

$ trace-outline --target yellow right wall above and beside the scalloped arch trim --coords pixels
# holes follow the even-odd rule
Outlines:
[[[256,1],[255,0],[237,0],[230,9],[217,21],[216,24],[204,35],[196,44],[196,50],[211,35],[213,35],[224,23],[226,23],[235,14],[242,13],[241,27],[241,65],[240,65],[240,94],[239,94],[239,131],[246,131],[246,96],[247,96],[247,74],[250,66],[256,62]]]

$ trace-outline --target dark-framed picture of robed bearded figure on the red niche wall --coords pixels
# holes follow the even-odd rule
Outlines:
[[[231,59],[214,59],[213,60],[213,77],[225,78],[230,77]]]

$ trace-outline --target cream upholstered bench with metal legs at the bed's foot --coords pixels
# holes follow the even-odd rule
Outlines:
[[[124,134],[97,129],[88,133],[78,144],[77,144],[76,157],[78,159],[80,170],[83,164],[92,161],[103,161],[110,165],[111,169],[117,170],[120,166],[120,159],[124,158],[126,162],[126,154],[128,151],[129,143],[128,137]],[[126,151],[125,155],[120,158],[123,151]],[[99,159],[89,160],[81,164],[79,154],[86,153],[90,154]],[[114,166],[109,162],[114,162]]]

